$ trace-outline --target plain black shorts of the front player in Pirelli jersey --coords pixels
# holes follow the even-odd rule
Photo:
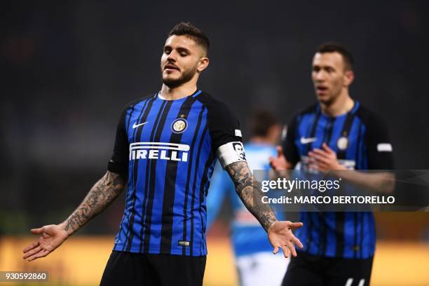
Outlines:
[[[203,285],[206,257],[113,251],[101,286]]]

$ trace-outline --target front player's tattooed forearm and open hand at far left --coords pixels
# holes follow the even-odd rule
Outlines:
[[[125,182],[120,175],[107,171],[89,191],[81,205],[61,224],[50,224],[32,229],[33,234],[41,237],[24,249],[24,259],[32,261],[46,257],[59,247],[71,234],[105,210],[123,191]]]

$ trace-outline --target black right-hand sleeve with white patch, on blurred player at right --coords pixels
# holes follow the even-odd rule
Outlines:
[[[374,114],[370,116],[366,132],[369,170],[393,170],[393,147],[386,123]]]

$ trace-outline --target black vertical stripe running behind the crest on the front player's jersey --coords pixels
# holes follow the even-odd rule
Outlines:
[[[188,118],[192,104],[196,102],[196,98],[189,96],[180,107],[179,114],[184,114],[184,118]],[[172,133],[168,142],[181,142],[183,133]],[[168,161],[165,169],[164,183],[164,198],[163,198],[163,214],[161,226],[161,252],[171,252],[172,240],[172,219],[173,219],[173,204],[175,203],[175,182],[177,177],[177,161]],[[146,243],[146,238],[145,238]],[[145,244],[146,246],[146,244]]]

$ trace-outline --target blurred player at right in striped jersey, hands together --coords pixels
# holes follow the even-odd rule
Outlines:
[[[271,158],[275,170],[347,170],[341,177],[383,193],[393,191],[392,145],[386,125],[348,87],[353,82],[353,58],[336,43],[318,48],[312,65],[318,103],[292,118],[282,150]],[[299,165],[297,165],[299,163]],[[338,174],[337,174],[338,175]],[[304,243],[292,258],[284,285],[369,285],[375,250],[372,212],[301,212]]]

